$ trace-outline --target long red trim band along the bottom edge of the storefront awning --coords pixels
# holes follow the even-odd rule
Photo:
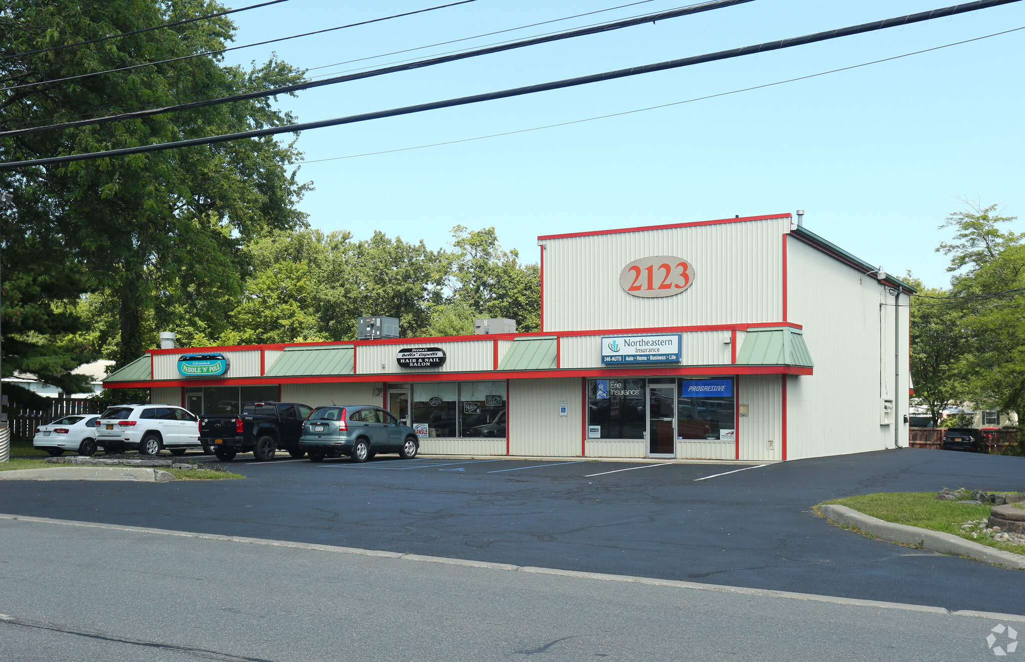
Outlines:
[[[427,372],[418,374],[318,375],[312,377],[237,377],[235,379],[169,379],[165,381],[121,381],[108,388],[151,388],[153,386],[254,386],[259,384],[330,384],[384,381],[485,381],[488,379],[532,379],[538,377],[670,377],[673,375],[811,375],[812,368],[801,366],[687,366],[678,368],[578,368],[564,370],[507,370],[480,372]]]

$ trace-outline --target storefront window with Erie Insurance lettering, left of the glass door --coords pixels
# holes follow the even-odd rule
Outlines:
[[[587,438],[644,439],[644,379],[587,380]]]

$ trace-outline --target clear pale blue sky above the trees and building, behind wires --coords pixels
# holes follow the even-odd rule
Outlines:
[[[625,4],[477,0],[415,16],[242,49],[302,68],[434,44]],[[239,0],[234,6],[249,4]],[[235,16],[237,44],[444,4],[290,0]],[[932,9],[952,0],[754,0],[609,34],[300,92],[279,106],[312,121],[644,65]],[[681,6],[652,0],[405,55],[525,38]],[[309,161],[470,138],[715,94],[1025,26],[1025,2],[949,18],[646,74],[303,133]],[[455,224],[494,225],[537,260],[538,235],[805,209],[815,233],[891,273],[948,283],[938,225],[998,203],[1025,217],[1025,30],[714,99],[559,128],[303,165],[314,227],[381,230],[445,246]],[[1015,223],[1019,225],[1020,223]]]

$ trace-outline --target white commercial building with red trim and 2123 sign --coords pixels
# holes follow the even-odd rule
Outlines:
[[[539,237],[539,333],[152,349],[203,414],[375,404],[430,454],[786,460],[906,446],[913,289],[790,214]]]

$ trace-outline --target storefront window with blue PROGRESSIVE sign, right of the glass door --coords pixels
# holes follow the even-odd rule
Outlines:
[[[734,441],[732,379],[681,379],[676,439]]]

